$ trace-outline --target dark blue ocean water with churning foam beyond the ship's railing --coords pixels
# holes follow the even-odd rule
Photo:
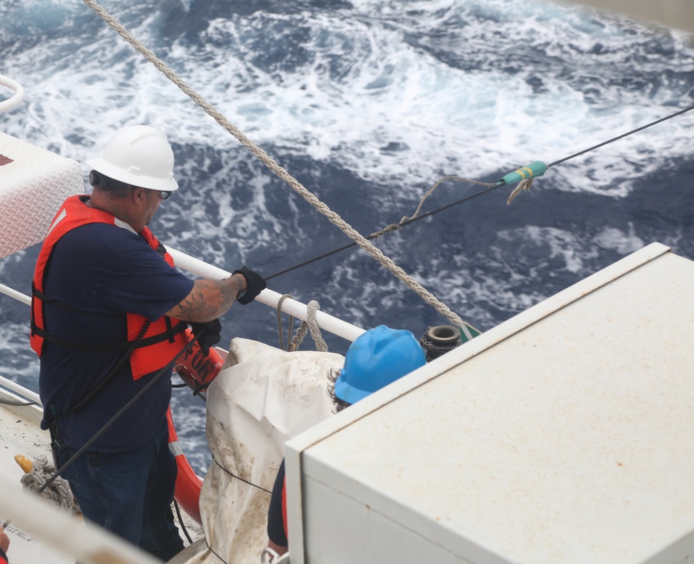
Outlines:
[[[364,235],[412,215],[441,176],[493,182],[694,103],[688,35],[568,4],[103,6]],[[81,163],[124,126],[169,135],[180,190],[151,225],[164,244],[270,275],[350,242],[81,2],[0,2],[0,74],[27,93],[0,115],[1,131]],[[495,190],[376,244],[484,331],[650,242],[694,258],[693,138],[694,112],[550,168],[511,205],[509,188]],[[478,190],[447,181],[423,213]],[[0,282],[28,294],[37,250],[0,260]],[[446,323],[357,247],[269,287],[365,329],[421,335]],[[0,296],[0,314],[0,374],[35,388],[28,308]],[[223,345],[278,343],[276,313],[260,304],[235,305],[222,322]],[[205,406],[176,390],[174,411],[204,474]]]

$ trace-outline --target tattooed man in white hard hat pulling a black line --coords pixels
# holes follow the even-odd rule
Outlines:
[[[83,515],[166,561],[183,542],[171,514],[171,370],[158,374],[187,345],[186,322],[209,348],[219,342],[217,318],[234,301],[253,301],[265,282],[246,267],[222,281],[174,268],[147,227],[178,190],[161,131],[125,128],[87,164],[94,190],[62,204],[34,275],[42,428]]]

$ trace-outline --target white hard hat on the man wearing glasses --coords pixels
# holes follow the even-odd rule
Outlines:
[[[134,125],[119,131],[100,157],[87,159],[96,172],[111,179],[149,188],[173,191],[174,151],[162,131],[146,125]]]

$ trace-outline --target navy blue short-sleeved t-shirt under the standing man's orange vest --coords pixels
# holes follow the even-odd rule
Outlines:
[[[128,340],[126,313],[158,320],[183,300],[194,282],[170,267],[135,231],[95,223],[66,233],[46,265],[44,294],[79,308],[44,304],[45,329],[69,342]],[[44,341],[39,387],[46,417],[54,406],[67,413],[110,372],[123,351],[78,351]],[[60,421],[62,439],[82,447],[156,374],[133,380],[130,363],[84,408]],[[162,421],[171,399],[164,374],[99,438],[90,450],[118,452],[144,445]]]

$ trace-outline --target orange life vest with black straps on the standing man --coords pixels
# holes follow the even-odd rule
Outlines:
[[[44,277],[46,274],[46,264],[60,238],[68,231],[77,227],[92,224],[92,223],[108,223],[116,225],[115,217],[103,210],[97,210],[86,206],[83,197],[71,196],[62,204],[60,210],[53,218],[53,222],[49,228],[48,234],[43,242],[39,258],[36,262],[34,272],[34,280],[32,284],[31,295],[31,348],[40,357],[44,345],[44,340],[56,340],[61,345],[69,348],[83,350],[113,350],[127,349],[129,345],[137,339],[144,324],[147,322],[145,317],[136,313],[126,313],[128,323],[128,341],[123,343],[111,344],[111,346],[101,345],[82,345],[79,343],[71,343],[58,341],[51,336],[49,331],[46,331],[44,322],[44,301],[50,299],[44,295]],[[152,232],[145,227],[142,233],[142,238],[149,246],[158,251],[169,266],[174,267],[174,259],[171,258],[164,249],[163,245],[155,238]],[[66,304],[62,304],[70,308]],[[73,308],[76,309],[76,308]],[[133,372],[133,379],[137,380],[145,374],[150,374],[160,370],[166,366],[171,359],[178,354],[181,349],[187,344],[188,340],[185,335],[187,324],[177,320],[174,317],[162,315],[158,320],[152,321],[146,333],[139,342],[139,345],[133,354],[130,355],[130,368]]]

